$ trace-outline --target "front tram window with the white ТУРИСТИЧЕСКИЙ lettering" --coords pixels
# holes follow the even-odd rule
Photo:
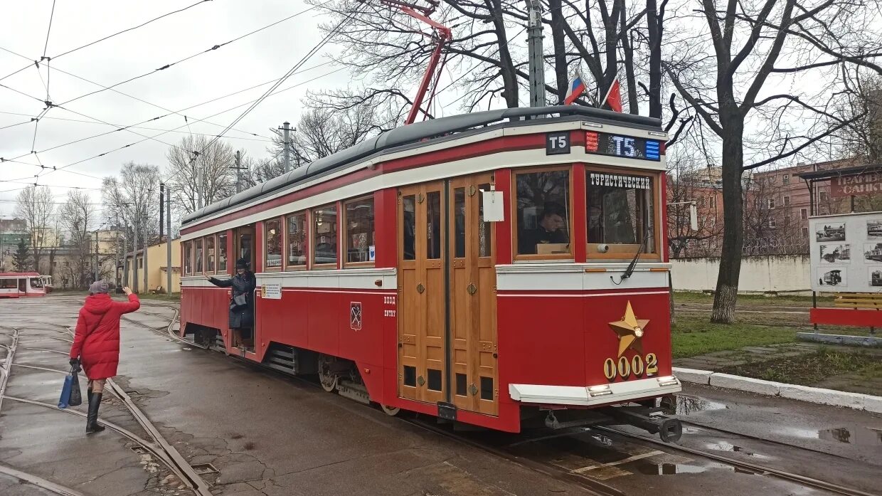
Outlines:
[[[655,253],[654,177],[587,172],[588,255]],[[601,248],[602,244],[608,245]]]

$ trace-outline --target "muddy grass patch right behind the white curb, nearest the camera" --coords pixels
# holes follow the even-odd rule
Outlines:
[[[866,380],[877,379],[882,377],[882,364],[878,357],[863,350],[848,352],[821,347],[813,354],[736,365],[721,372],[811,386],[831,376],[852,372]]]

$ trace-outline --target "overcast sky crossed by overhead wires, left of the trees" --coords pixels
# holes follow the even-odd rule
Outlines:
[[[67,50],[125,28],[138,26],[149,19],[182,9],[196,1],[56,2],[46,56],[59,56]],[[4,19],[4,28],[0,31],[0,78],[25,67],[29,60],[39,60],[43,55],[52,4],[52,0],[32,0],[4,2],[0,6],[0,18]],[[45,67],[38,71],[31,62],[31,66],[25,71],[0,80],[0,84],[4,86],[10,86],[40,100],[0,87],[0,112],[4,112],[0,113],[0,157],[11,159],[21,154],[28,154],[18,159],[19,162],[37,164],[39,159],[39,162],[47,167],[60,168],[144,139],[143,136],[132,132],[112,132],[107,136],[86,139],[77,144],[43,152],[42,150],[51,147],[114,129],[106,124],[88,124],[63,119],[101,120],[111,124],[131,125],[169,113],[113,91],[102,91],[64,104],[65,109],[82,115],[65,109],[50,109],[39,122],[35,141],[33,123],[3,129],[4,126],[26,122],[31,116],[38,116],[41,113],[45,107],[41,101],[46,99],[47,94],[44,83],[49,85],[49,100],[56,104],[101,90],[100,86],[55,71],[56,68],[104,86],[111,86],[309,8],[310,6],[304,4],[302,0],[261,0],[260,2],[213,0],[131,32],[117,35],[107,41],[101,41],[70,55],[59,56],[57,60],[50,62],[52,69],[49,71]],[[318,11],[307,11],[258,34],[252,34],[220,49],[196,56],[145,78],[116,86],[114,89],[165,109],[177,111],[278,79],[321,39],[317,27],[321,21],[323,19]],[[10,50],[26,58],[12,55],[4,50]],[[325,64],[328,62],[327,54],[328,49],[325,49],[313,56],[304,65],[307,71],[295,73],[280,86],[280,89],[310,79],[315,80],[270,96],[235,125],[237,131],[226,134],[229,138],[228,142],[234,147],[246,149],[251,156],[257,158],[268,156],[265,151],[268,143],[265,139],[270,135],[269,128],[278,127],[286,120],[291,123],[297,121],[301,107],[300,100],[307,89],[348,86],[347,71],[329,74],[337,68]],[[309,68],[313,69],[309,70]],[[270,86],[269,84],[259,86],[182,113],[188,116],[188,120],[192,123],[196,119],[204,119],[222,110],[253,101]],[[171,130],[183,126],[178,130],[179,132],[168,132],[158,136],[161,131],[147,129],[131,131],[146,136],[157,136],[156,139],[166,143],[176,143],[186,135],[186,132],[206,134],[221,132],[246,108],[247,106],[240,107],[207,119],[213,124],[221,125],[195,123],[188,127],[183,116],[173,115],[141,125],[159,130]],[[258,136],[253,136],[251,133],[256,133]],[[38,152],[36,156],[29,154],[32,149]],[[95,188],[88,192],[98,204],[101,201],[100,191],[97,190],[101,185],[98,177],[114,175],[124,162],[130,161],[150,163],[164,168],[167,162],[165,159],[167,149],[168,146],[163,143],[147,140],[137,146],[78,163],[66,169],[93,177],[66,171],[50,174],[43,172],[38,183],[51,186],[58,201],[64,200],[70,186]],[[25,187],[25,183],[33,184],[34,174],[40,172],[39,165],[0,163],[0,216],[9,217],[13,213],[14,199],[18,191],[10,190]]]

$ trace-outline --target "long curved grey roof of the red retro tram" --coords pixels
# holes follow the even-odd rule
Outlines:
[[[221,199],[196,212],[187,214],[183,217],[181,223],[182,226],[186,226],[208,215],[217,214],[228,208],[241,205],[243,202],[258,199],[272,192],[277,192],[282,188],[328,174],[372,155],[381,154],[393,149],[428,146],[437,143],[437,139],[452,133],[480,133],[486,132],[488,129],[497,129],[498,127],[520,127],[548,124],[549,122],[579,121],[584,120],[586,117],[590,118],[593,122],[607,122],[609,124],[649,130],[658,130],[662,125],[661,119],[654,117],[635,116],[579,105],[487,110],[431,119],[383,132],[345,150],[340,150],[340,152],[320,158],[315,162],[310,162],[279,177],[273,177],[273,179],[265,183],[257,184],[243,192],[236,193],[231,197]]]

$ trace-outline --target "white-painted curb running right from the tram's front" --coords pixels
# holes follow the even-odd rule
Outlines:
[[[848,393],[822,387],[797,386],[771,380],[751,379],[728,373],[674,367],[674,375],[683,382],[737,389],[766,396],[780,396],[801,402],[819,403],[854,410],[882,413],[882,396]]]

